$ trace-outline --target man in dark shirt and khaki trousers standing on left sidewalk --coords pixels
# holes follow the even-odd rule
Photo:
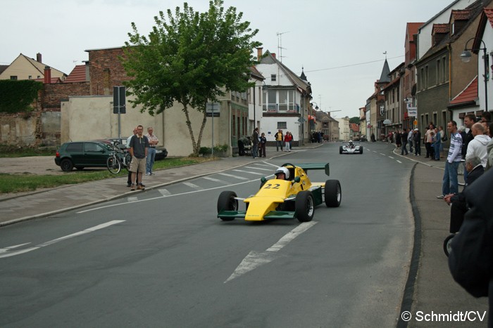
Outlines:
[[[132,186],[130,190],[135,190],[135,179],[137,178],[137,190],[144,190],[142,185],[142,172],[146,171],[146,157],[149,150],[149,141],[142,134],[144,127],[137,126],[137,134],[130,139],[130,171],[132,172]]]

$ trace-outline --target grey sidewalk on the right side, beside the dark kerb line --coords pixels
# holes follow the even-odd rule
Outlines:
[[[404,293],[402,310],[411,312],[409,322],[399,321],[397,327],[487,327],[487,315],[483,322],[418,321],[419,315],[450,315],[488,310],[487,298],[475,299],[452,278],[443,241],[449,235],[450,207],[443,199],[442,178],[446,158],[432,161],[425,156],[401,156],[400,148],[394,155],[402,161],[416,162],[411,175],[411,206],[415,221],[415,244],[408,284]],[[422,152],[423,154],[423,152]],[[459,190],[462,188],[459,187]],[[422,313],[419,313],[422,312]]]

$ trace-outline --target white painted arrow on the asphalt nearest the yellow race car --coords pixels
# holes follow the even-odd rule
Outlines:
[[[229,282],[240,275],[244,275],[251,270],[258,268],[263,264],[267,264],[270,261],[275,259],[275,254],[277,251],[280,251],[283,247],[285,247],[289,242],[292,242],[294,238],[301,235],[306,230],[316,225],[317,221],[304,222],[294,228],[293,230],[287,232],[286,235],[282,236],[280,240],[278,240],[271,247],[266,249],[266,251],[258,252],[258,251],[250,251],[250,253],[243,259],[242,263],[239,263],[238,267],[235,269],[235,272],[230,275],[229,278],[224,282]]]

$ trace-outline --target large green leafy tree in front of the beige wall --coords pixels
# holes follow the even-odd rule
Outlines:
[[[217,101],[227,91],[246,91],[251,84],[249,67],[252,51],[261,43],[252,39],[258,29],[242,22],[243,13],[235,7],[223,8],[223,0],[209,2],[206,13],[199,13],[185,2],[183,9],[162,11],[154,17],[156,25],[148,37],[132,22],[130,41],[125,42],[123,67],[132,77],[125,82],[127,93],[135,96],[132,107],[141,112],[160,114],[180,103],[185,112],[194,154],[199,154],[206,125],[206,103]],[[189,111],[203,114],[195,138]]]

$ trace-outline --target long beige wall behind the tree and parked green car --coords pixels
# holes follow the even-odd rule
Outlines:
[[[128,99],[128,98],[127,98]],[[99,138],[118,138],[118,114],[113,114],[113,96],[70,97],[61,104],[61,143]],[[158,145],[166,147],[170,156],[192,154],[192,140],[181,105],[168,108],[154,117],[139,108],[127,105],[126,114],[120,114],[120,136],[127,138],[137,125],[154,127]],[[230,145],[230,103],[221,103],[220,117],[214,118],[214,145]],[[198,141],[201,112],[189,109],[195,140]],[[201,141],[202,147],[212,146],[212,118],[208,117]]]

